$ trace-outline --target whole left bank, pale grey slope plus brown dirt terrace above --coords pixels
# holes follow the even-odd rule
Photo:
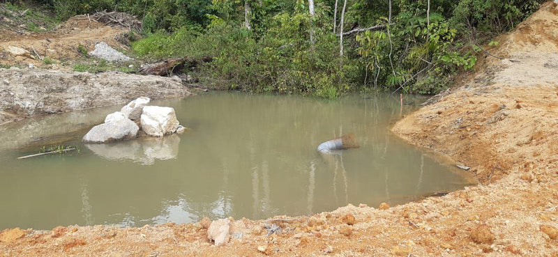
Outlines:
[[[120,42],[127,32],[127,28],[107,26],[85,15],[72,17],[54,31],[29,33],[0,27],[0,33],[6,35],[0,37],[0,64],[39,67],[0,68],[0,125],[29,116],[123,104],[140,96],[157,99],[192,94],[178,77],[70,71],[75,63],[94,65],[97,60],[85,59],[83,52],[92,51],[98,42],[107,42],[119,51],[128,49]],[[13,47],[27,52],[10,52]],[[128,64],[116,66],[127,68]]]

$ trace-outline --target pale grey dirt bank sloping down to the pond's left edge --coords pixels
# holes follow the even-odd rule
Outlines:
[[[0,124],[30,116],[56,114],[151,99],[192,95],[178,77],[122,72],[63,72],[0,69]]]

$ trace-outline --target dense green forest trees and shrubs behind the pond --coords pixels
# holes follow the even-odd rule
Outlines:
[[[336,98],[347,91],[439,93],[482,44],[542,0],[45,0],[60,20],[100,10],[142,20],[137,56],[200,60],[202,83]],[[201,60],[211,60],[202,62]]]

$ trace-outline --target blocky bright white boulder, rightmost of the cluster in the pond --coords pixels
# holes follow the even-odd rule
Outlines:
[[[179,121],[172,107],[146,106],[141,116],[142,130],[152,137],[176,132]]]

